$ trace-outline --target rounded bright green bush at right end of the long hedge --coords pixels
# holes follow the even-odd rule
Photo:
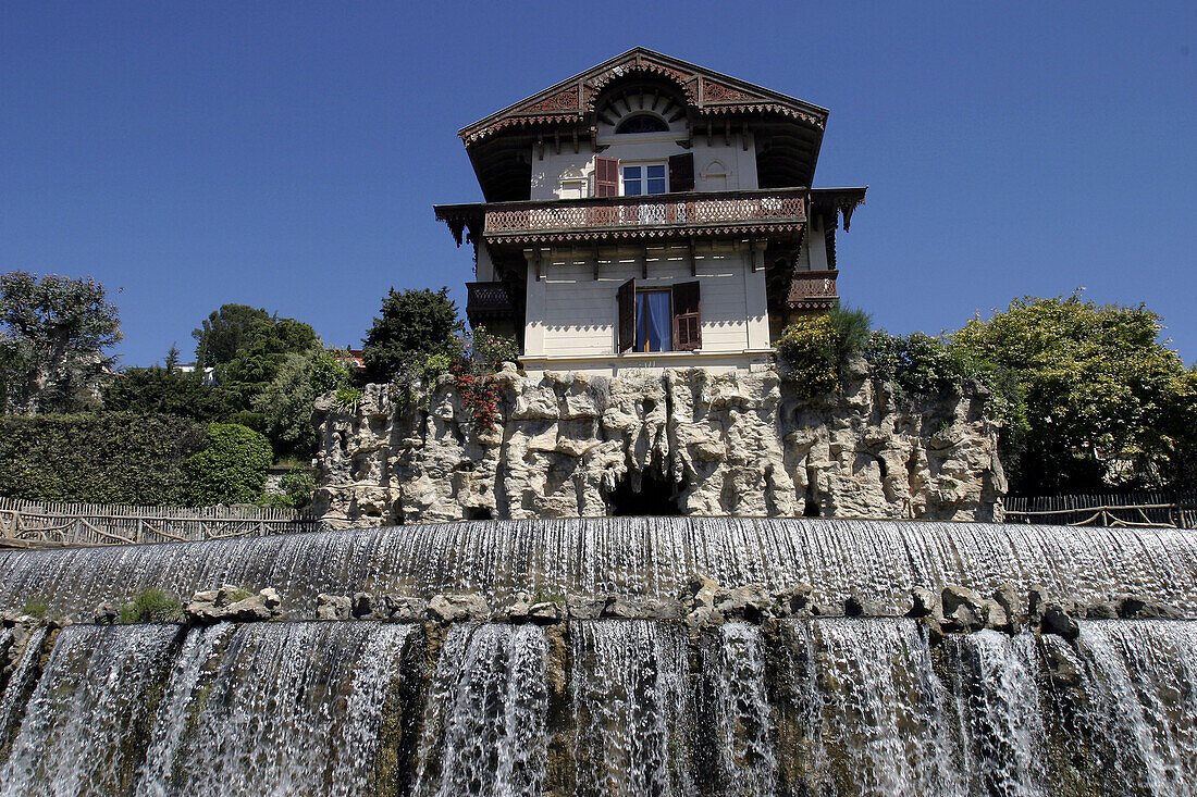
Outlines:
[[[271,443],[238,424],[213,424],[207,446],[187,461],[188,495],[196,506],[249,504],[266,487]]]

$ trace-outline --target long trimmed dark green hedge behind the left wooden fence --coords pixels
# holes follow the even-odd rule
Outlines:
[[[0,416],[0,495],[85,504],[182,505],[184,463],[205,425],[170,415]]]

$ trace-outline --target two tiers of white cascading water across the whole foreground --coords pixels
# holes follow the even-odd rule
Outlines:
[[[619,518],[0,553],[10,608],[87,619],[227,582],[290,615],[0,632],[0,797],[1197,795],[1192,621],[940,638],[898,616],[600,617],[606,597],[545,626],[298,621],[317,591],[675,597],[694,573],[810,582],[825,606],[1041,582],[1197,614],[1179,530]]]

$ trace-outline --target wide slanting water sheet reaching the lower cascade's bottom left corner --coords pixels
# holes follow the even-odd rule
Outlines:
[[[62,629],[0,769],[0,796],[128,793],[177,626]]]

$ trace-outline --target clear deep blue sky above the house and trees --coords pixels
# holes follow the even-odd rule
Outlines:
[[[391,286],[463,304],[456,130],[634,45],[831,109],[815,184],[869,185],[839,287],[876,326],[1083,286],[1197,359],[1192,2],[7,0],[0,270],[103,281],[124,365],[227,302],[357,345]]]

